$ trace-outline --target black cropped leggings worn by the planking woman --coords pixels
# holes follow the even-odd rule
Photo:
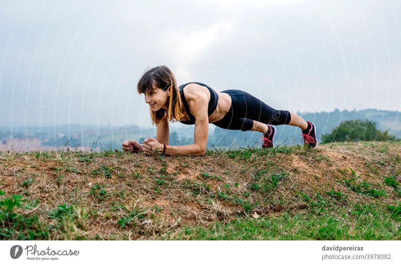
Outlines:
[[[249,131],[254,120],[265,124],[289,124],[291,114],[287,110],[275,110],[248,92],[236,89],[224,90],[230,95],[232,103],[229,112],[213,124],[224,129]]]

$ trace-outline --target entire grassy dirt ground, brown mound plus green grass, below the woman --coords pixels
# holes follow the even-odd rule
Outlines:
[[[0,239],[400,240],[400,147],[0,154]]]

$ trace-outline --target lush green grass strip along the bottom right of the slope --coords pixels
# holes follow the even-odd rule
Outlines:
[[[389,206],[390,207],[390,206]],[[392,207],[392,206],[391,206]],[[398,206],[399,207],[399,206]],[[346,207],[325,209],[322,214],[282,212],[262,218],[240,217],[209,226],[184,226],[168,232],[163,239],[190,240],[399,240],[399,208],[359,205],[348,213]],[[397,217],[398,216],[398,217]],[[397,219],[398,218],[398,219]]]

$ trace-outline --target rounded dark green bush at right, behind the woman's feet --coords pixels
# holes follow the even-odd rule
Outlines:
[[[376,123],[366,119],[343,121],[331,133],[323,135],[322,143],[345,141],[387,141],[396,140],[394,135],[388,135],[388,130],[381,132]]]

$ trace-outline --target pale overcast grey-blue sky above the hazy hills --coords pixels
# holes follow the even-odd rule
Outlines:
[[[400,17],[400,1],[2,1],[0,125],[150,127],[136,83],[157,65],[277,109],[401,111]]]

